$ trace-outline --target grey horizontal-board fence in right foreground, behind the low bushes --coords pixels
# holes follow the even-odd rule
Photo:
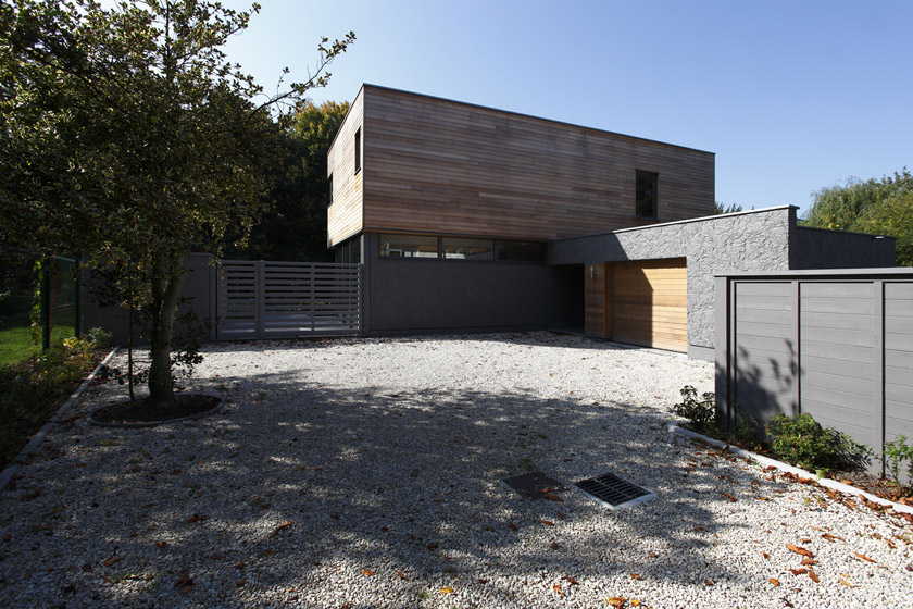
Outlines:
[[[913,271],[717,277],[717,407],[808,412],[873,448],[913,438]]]

